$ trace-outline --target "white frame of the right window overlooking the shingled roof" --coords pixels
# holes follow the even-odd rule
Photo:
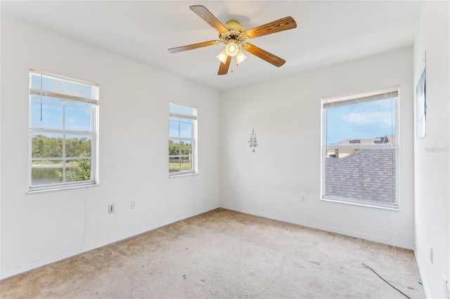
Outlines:
[[[395,137],[393,138],[393,142],[383,145],[364,145],[360,143],[354,143],[349,142],[349,145],[327,145],[327,115],[326,115],[326,107],[327,103],[342,103],[342,105],[351,105],[358,102],[368,102],[373,101],[370,100],[371,98],[376,98],[378,95],[391,93],[390,97],[386,98],[393,98],[394,99],[394,126],[395,130],[392,131],[392,135]],[[394,93],[394,96],[392,96],[392,93]],[[397,93],[397,95],[395,95]],[[364,100],[366,98],[366,100]],[[378,100],[381,100],[382,98],[379,98]],[[340,202],[343,204],[353,204],[357,206],[369,206],[374,208],[384,208],[384,209],[390,209],[390,210],[399,210],[400,203],[399,203],[399,105],[400,105],[400,88],[399,86],[391,86],[387,88],[380,88],[373,91],[365,91],[365,92],[358,92],[358,93],[347,93],[343,95],[331,95],[327,97],[321,98],[321,200],[323,201],[333,201],[333,202]],[[375,138],[375,136],[374,136]],[[336,195],[327,195],[326,194],[326,158],[327,158],[327,150],[371,150],[371,149],[391,149],[394,151],[394,202],[392,204],[390,203],[383,203],[380,201],[375,201],[373,199],[364,199],[364,198],[353,198],[353,197],[339,197]]]

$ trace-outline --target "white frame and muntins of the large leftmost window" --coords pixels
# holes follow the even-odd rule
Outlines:
[[[64,91],[70,89],[69,87],[63,89],[61,92],[44,90],[42,88],[32,88],[32,76],[38,75],[41,77],[49,77],[51,79],[56,79],[56,81],[68,81],[73,84],[82,84],[85,86],[89,86],[91,88],[91,95],[89,98],[84,98],[79,95],[66,94]],[[57,74],[51,74],[48,72],[39,72],[34,69],[30,69],[30,91],[29,91],[29,171],[28,171],[28,192],[40,192],[47,190],[61,190],[68,189],[71,187],[84,187],[91,185],[98,185],[98,98],[99,98],[99,86],[98,84],[93,84],[86,81],[81,81],[77,79],[72,79],[69,77],[63,77]],[[41,103],[55,105],[55,107],[61,107],[61,121],[62,128],[50,128],[44,126],[32,126],[32,105],[36,100],[33,100],[33,97],[39,96]],[[52,101],[54,100],[54,101]],[[84,105],[84,106],[83,106]],[[87,106],[89,105],[89,107]],[[79,130],[79,129],[70,129],[65,128],[65,119],[66,113],[65,109],[67,107],[77,108],[77,109],[88,109],[90,111],[90,128],[89,130]],[[44,157],[44,158],[36,158],[33,156],[33,136],[34,135],[47,135],[47,134],[58,134],[62,137],[62,155],[61,157]],[[66,152],[66,140],[70,139],[68,136],[70,135],[79,135],[85,136],[90,140],[90,156],[86,157],[70,157],[68,152]],[[77,160],[89,160],[90,161],[90,180],[80,180],[80,181],[72,181],[72,182],[53,182],[47,184],[34,184],[32,182],[32,162],[33,161],[63,161],[63,178],[65,178],[66,170],[65,165],[68,161],[77,161]]]

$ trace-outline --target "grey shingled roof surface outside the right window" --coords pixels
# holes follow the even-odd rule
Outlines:
[[[326,158],[326,195],[395,202],[395,150],[365,149]]]

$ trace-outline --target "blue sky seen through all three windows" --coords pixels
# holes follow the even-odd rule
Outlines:
[[[32,127],[56,128],[63,127],[63,109],[55,105],[59,100],[32,96],[31,123]],[[327,145],[345,139],[372,139],[384,135],[395,135],[394,109],[395,101],[391,99],[362,102],[353,105],[328,107],[326,112]],[[175,106],[176,108],[174,109]],[[193,114],[193,109],[183,109],[171,105],[171,112]],[[88,109],[86,109],[88,108]],[[181,109],[180,109],[181,108]],[[42,120],[41,120],[42,112]],[[79,131],[89,131],[91,109],[89,104],[72,102],[65,108],[65,128]],[[172,136],[191,137],[191,120],[185,119],[179,126],[178,118],[171,117],[169,131]],[[50,137],[50,136],[49,136]]]

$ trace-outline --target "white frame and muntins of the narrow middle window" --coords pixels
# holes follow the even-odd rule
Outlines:
[[[170,112],[170,107],[171,105],[176,105],[176,106],[180,106],[180,107],[186,107],[188,109],[192,109],[193,113],[192,115],[189,114],[180,114],[180,113],[174,113],[174,112]],[[170,135],[170,123],[171,123],[171,118],[175,117],[179,119],[179,135],[178,136],[172,136]],[[186,137],[181,137],[180,136],[180,132],[181,132],[181,128],[180,128],[180,124],[182,123],[183,119],[188,119],[189,121],[187,123],[191,123],[191,138],[186,138]],[[192,105],[188,105],[188,104],[183,104],[183,103],[179,103],[179,102],[169,102],[169,126],[168,126],[168,137],[169,137],[169,142],[170,141],[174,141],[174,140],[179,140],[180,142],[182,141],[189,141],[191,142],[191,169],[188,171],[182,171],[181,170],[181,166],[180,166],[180,170],[179,171],[170,171],[170,168],[168,169],[169,171],[169,177],[176,177],[178,175],[191,175],[191,174],[196,174],[198,173],[197,170],[197,160],[198,160],[198,155],[197,155],[197,128],[198,128],[198,108],[194,107]],[[176,155],[171,155],[168,153],[168,159],[167,161],[169,161],[170,163],[170,158],[171,157],[179,157],[181,159],[181,157],[186,157],[189,155],[186,154],[176,154]]]

